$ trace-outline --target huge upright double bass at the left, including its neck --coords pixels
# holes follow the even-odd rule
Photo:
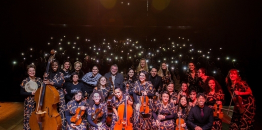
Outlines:
[[[54,58],[55,51],[51,50],[45,73],[48,74],[49,65]],[[45,77],[47,79],[47,77]],[[56,104],[59,103],[59,93],[51,85],[42,84],[35,92],[36,109],[29,119],[31,130],[60,130],[62,119],[57,112]]]

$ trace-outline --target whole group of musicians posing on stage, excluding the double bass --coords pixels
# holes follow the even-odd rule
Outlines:
[[[20,85],[21,95],[25,96],[23,130],[30,130],[29,118],[35,110],[37,89],[27,92],[29,81],[35,82],[37,88],[48,84],[59,92],[61,130],[222,130],[224,94],[213,77],[205,76],[203,68],[196,70],[189,62],[187,80],[179,83],[180,90],[175,92],[175,80],[170,78],[173,72],[168,71],[166,63],[149,71],[144,62],[140,60],[138,70],[129,69],[126,79],[115,64],[100,77],[93,75],[99,71],[94,68],[88,76],[97,84],[87,95],[77,72],[70,76],[73,89],[63,89],[64,74],[57,60],[51,63],[48,74],[44,73],[44,80],[35,77],[33,64],[28,65],[28,78]],[[197,82],[202,84],[197,86]],[[228,72],[225,82],[235,104],[229,130],[253,130],[255,100],[249,86],[235,69]]]

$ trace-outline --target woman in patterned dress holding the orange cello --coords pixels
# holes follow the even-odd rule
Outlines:
[[[116,87],[114,88],[114,97],[111,100],[111,106],[113,109],[113,115],[112,115],[112,121],[111,121],[111,126],[110,126],[110,130],[114,130],[114,126],[115,124],[119,121],[119,117],[118,117],[118,113],[124,113],[124,112],[118,112],[118,107],[119,105],[125,103],[125,100],[127,99],[127,105],[132,106],[133,102],[132,99],[129,96],[126,96],[122,93],[121,88]],[[120,117],[121,118],[121,117]],[[127,119],[128,121],[131,121],[131,119]]]

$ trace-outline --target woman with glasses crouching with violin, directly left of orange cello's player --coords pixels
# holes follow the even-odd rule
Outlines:
[[[96,109],[102,109],[100,118],[93,122],[92,115],[95,114]],[[104,97],[100,91],[95,90],[89,97],[89,104],[87,109],[87,121],[89,123],[89,130],[108,130],[105,121],[107,117],[107,104],[104,102]]]

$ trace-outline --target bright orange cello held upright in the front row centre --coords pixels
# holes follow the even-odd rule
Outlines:
[[[126,88],[126,84],[125,84]],[[127,91],[127,89],[126,89]],[[125,102],[124,104],[119,105],[117,109],[119,120],[114,126],[114,130],[133,130],[132,123],[130,122],[130,118],[133,114],[133,109],[130,105],[127,105],[127,94],[125,95]]]

